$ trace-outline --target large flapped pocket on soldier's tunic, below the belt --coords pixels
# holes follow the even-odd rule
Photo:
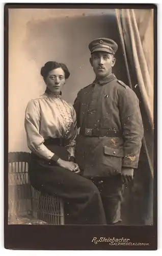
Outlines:
[[[121,173],[122,159],[124,157],[123,148],[112,148],[103,146],[103,164],[109,169],[109,173],[116,175]]]

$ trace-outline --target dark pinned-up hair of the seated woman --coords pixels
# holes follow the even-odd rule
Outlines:
[[[65,73],[65,79],[67,79],[70,76],[70,72],[68,71],[68,68],[63,63],[58,63],[56,61],[48,61],[45,63],[44,67],[41,68],[41,75],[43,76],[43,79],[45,79],[48,76],[49,71],[53,69],[62,68]]]

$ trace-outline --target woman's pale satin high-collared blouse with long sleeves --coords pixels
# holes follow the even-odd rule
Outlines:
[[[43,144],[45,139],[65,138],[70,156],[74,156],[77,136],[76,114],[73,106],[60,96],[44,93],[29,101],[25,111],[25,131],[30,150],[44,159],[50,159],[51,152]]]

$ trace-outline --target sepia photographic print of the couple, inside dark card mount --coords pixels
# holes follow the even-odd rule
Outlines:
[[[8,9],[8,225],[153,225],[154,9]]]

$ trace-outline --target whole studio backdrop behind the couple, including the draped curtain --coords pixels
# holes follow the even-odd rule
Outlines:
[[[109,37],[118,44],[113,73],[137,93],[145,136],[134,182],[124,191],[123,224],[152,224],[153,193],[153,11],[115,9],[9,10],[9,152],[29,152],[26,105],[45,91],[46,61],[67,65],[62,97],[73,103],[94,80],[89,42]]]

